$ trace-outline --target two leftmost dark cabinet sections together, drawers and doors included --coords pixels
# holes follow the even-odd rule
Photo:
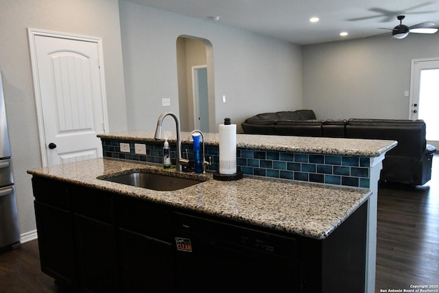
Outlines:
[[[112,194],[34,177],[41,269],[78,292],[119,292]]]

